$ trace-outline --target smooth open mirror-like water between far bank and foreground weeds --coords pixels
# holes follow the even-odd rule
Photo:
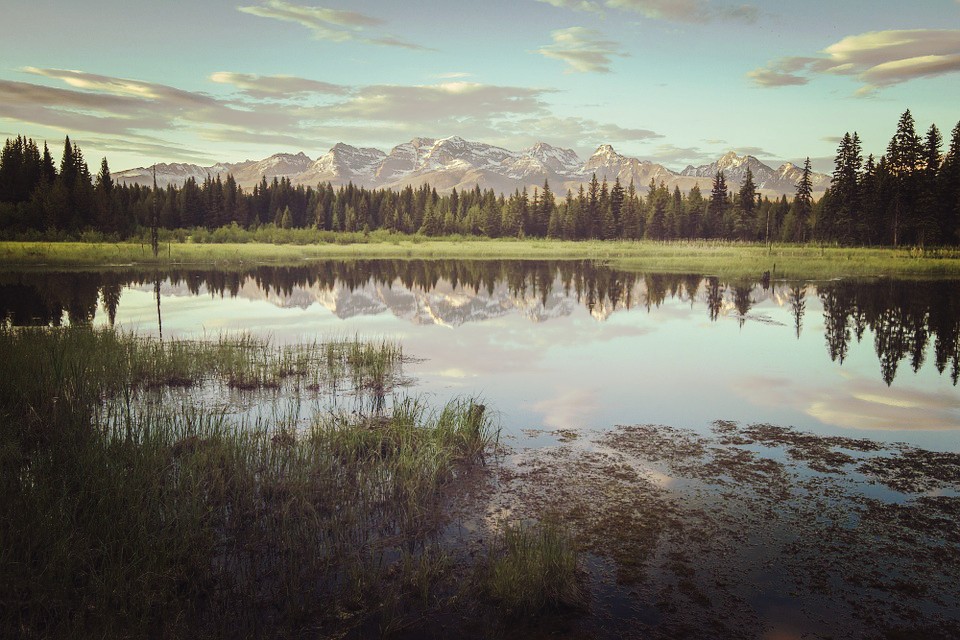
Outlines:
[[[159,303],[159,316],[158,316]],[[718,419],[960,451],[960,282],[737,280],[589,261],[327,261],[0,274],[13,325],[390,338],[402,393],[507,433]]]

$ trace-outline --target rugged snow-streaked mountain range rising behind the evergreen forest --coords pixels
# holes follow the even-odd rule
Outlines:
[[[661,164],[640,160],[617,153],[609,144],[602,144],[582,160],[571,149],[562,149],[538,142],[523,151],[510,151],[483,142],[471,142],[458,136],[449,138],[414,138],[384,153],[369,147],[354,147],[337,143],[316,160],[305,153],[277,153],[263,160],[236,163],[217,163],[210,167],[196,164],[157,164],[157,184],[182,185],[189,178],[202,182],[208,176],[225,178],[233,175],[241,187],[252,188],[264,177],[288,178],[294,185],[317,185],[330,182],[334,186],[352,182],[368,188],[401,189],[430,184],[440,192],[451,189],[493,189],[512,193],[526,187],[532,190],[550,182],[554,193],[576,191],[581,184],[598,179],[613,182],[619,178],[626,187],[630,181],[641,193],[651,180],[663,182],[669,189],[679,187],[682,192],[699,185],[705,193],[710,190],[713,177],[722,170],[730,189],[739,188],[747,168],[761,193],[771,196],[793,195],[802,169],[785,163],[774,169],[751,155],[738,156],[733,151],[716,162],[699,167],[688,166],[675,172]],[[152,167],[119,171],[114,179],[125,184],[150,185]],[[822,192],[830,184],[830,176],[814,173],[813,190]]]

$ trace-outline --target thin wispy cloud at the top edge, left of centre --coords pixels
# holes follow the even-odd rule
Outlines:
[[[293,22],[309,29],[317,40],[328,42],[364,42],[367,44],[401,47],[404,49],[426,50],[412,42],[390,35],[366,37],[361,35],[367,27],[379,27],[385,24],[380,18],[368,16],[356,11],[342,11],[326,7],[308,7],[284,0],[265,0],[259,5],[237,7],[238,11],[260,18],[270,18],[282,22]]]

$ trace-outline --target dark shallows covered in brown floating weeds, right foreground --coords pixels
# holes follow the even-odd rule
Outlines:
[[[960,637],[960,454],[725,421],[542,433],[479,503],[575,536],[589,608],[535,635]]]

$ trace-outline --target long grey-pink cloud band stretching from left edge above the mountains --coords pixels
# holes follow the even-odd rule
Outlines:
[[[166,142],[195,139],[282,146],[317,153],[331,142],[393,145],[415,136],[457,134],[509,148],[538,140],[588,148],[662,136],[643,127],[558,117],[548,88],[462,80],[343,87],[293,76],[218,72],[242,101],[83,71],[29,68],[62,87],[0,80],[0,122],[54,128],[78,140],[154,158],[194,162],[202,154]],[[285,100],[291,95],[297,100]],[[275,151],[275,149],[274,149]],[[220,158],[222,159],[222,158]]]

